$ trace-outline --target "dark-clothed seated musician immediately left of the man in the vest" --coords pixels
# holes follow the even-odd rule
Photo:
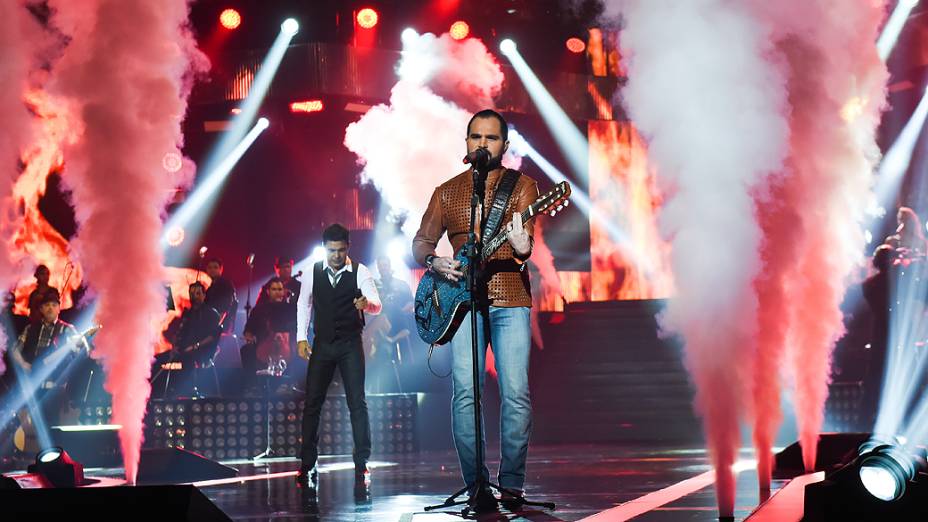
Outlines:
[[[285,301],[286,289],[280,278],[267,283],[267,299],[255,306],[245,323],[242,346],[242,368],[246,387],[253,386],[255,372],[266,368],[270,358],[281,358],[290,363],[291,342],[296,333],[296,318],[292,306]]]

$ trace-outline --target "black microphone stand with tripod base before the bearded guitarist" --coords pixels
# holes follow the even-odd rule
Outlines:
[[[478,266],[482,264],[483,260],[481,259],[483,252],[483,238],[478,238],[476,233],[477,227],[477,207],[483,204],[485,200],[486,192],[486,177],[487,173],[480,172],[479,160],[471,162],[471,175],[473,176],[473,194],[471,195],[470,200],[470,230],[467,233],[467,243],[464,245],[465,255],[467,256],[467,288],[470,292],[470,348],[471,348],[471,366],[472,366],[472,379],[474,387],[474,442],[476,447],[475,458],[474,458],[474,490],[467,497],[467,500],[457,500],[459,496],[464,494],[467,491],[467,485],[465,484],[463,488],[455,492],[453,495],[445,499],[442,504],[427,506],[425,511],[433,511],[436,509],[444,509],[451,506],[458,506],[461,504],[466,504],[464,509],[461,511],[461,516],[464,518],[470,517],[474,514],[478,514],[477,511],[477,496],[487,488],[493,488],[496,491],[501,493],[505,492],[514,498],[518,499],[516,503],[519,507],[523,505],[531,506],[540,506],[548,509],[555,509],[553,502],[531,502],[525,500],[524,497],[518,494],[516,491],[504,488],[499,484],[495,484],[489,479],[483,477],[483,468],[484,468],[484,440],[483,440],[483,408],[481,400],[481,390],[480,390],[480,364],[478,363],[479,359],[479,343],[477,342],[477,314],[480,313],[480,310],[486,306],[486,300],[483,298],[480,289],[477,286],[478,279]],[[483,219],[481,216],[481,227],[483,226]],[[489,321],[490,317],[487,314],[486,320]],[[484,349],[486,349],[484,347]],[[492,492],[490,493],[492,495]],[[496,498],[494,497],[494,500]]]

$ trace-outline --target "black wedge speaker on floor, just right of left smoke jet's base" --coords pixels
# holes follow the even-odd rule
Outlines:
[[[238,470],[179,448],[148,448],[139,459],[139,484],[180,484],[232,478]]]

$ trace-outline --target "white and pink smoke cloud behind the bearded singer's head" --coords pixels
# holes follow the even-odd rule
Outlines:
[[[407,213],[403,231],[411,237],[435,187],[464,171],[467,122],[472,111],[492,108],[503,74],[479,40],[423,34],[403,45],[390,103],[349,125],[345,146],[364,165],[364,181]],[[507,156],[504,163],[516,167]]]

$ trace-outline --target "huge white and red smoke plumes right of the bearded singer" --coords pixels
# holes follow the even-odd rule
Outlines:
[[[874,42],[883,5],[608,7],[624,15],[625,102],[668,194],[661,226],[677,294],[663,324],[685,339],[720,515],[730,516],[742,420],[753,420],[760,483],[769,486],[786,369],[805,465],[814,464],[831,351],[843,333],[839,304],[862,251],[878,156],[886,71]],[[849,104],[862,110],[844,110]]]

